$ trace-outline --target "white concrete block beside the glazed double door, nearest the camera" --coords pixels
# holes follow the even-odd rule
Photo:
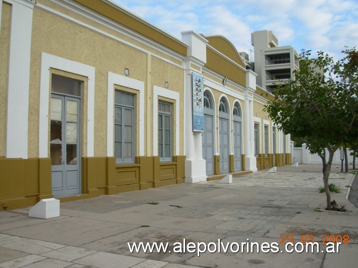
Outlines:
[[[59,217],[59,200],[55,198],[41,199],[29,210],[29,217],[40,219]]]

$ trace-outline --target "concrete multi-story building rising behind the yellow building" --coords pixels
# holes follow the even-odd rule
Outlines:
[[[299,54],[291,46],[278,46],[278,39],[272,31],[255,31],[251,33],[254,46],[254,71],[256,83],[272,92],[279,82],[292,77],[299,68]]]

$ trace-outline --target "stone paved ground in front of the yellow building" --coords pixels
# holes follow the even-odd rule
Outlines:
[[[347,212],[324,211],[320,166],[280,167],[234,177],[61,203],[61,216],[0,212],[0,267],[337,267],[358,261],[358,209],[346,200],[354,174],[333,166],[333,193]],[[157,204],[157,205],[152,205]],[[349,235],[339,253],[173,252],[175,242],[279,243]],[[128,242],[168,242],[171,252],[131,253]],[[243,244],[244,250],[247,246]],[[321,246],[323,246],[321,244]]]

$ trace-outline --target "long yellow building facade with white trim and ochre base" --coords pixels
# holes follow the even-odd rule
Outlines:
[[[262,111],[272,95],[225,38],[180,40],[105,0],[3,0],[0,14],[0,210],[290,163]]]

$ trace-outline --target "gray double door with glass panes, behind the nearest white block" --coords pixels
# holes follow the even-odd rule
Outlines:
[[[78,194],[81,99],[51,94],[50,157],[52,194]]]

